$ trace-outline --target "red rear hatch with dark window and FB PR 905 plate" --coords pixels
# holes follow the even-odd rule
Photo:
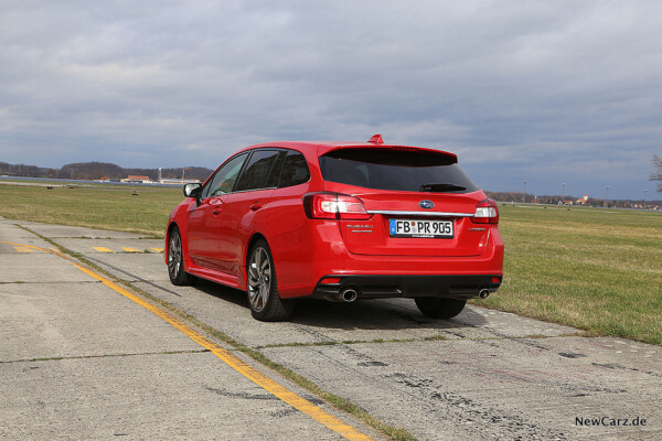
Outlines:
[[[480,255],[489,228],[471,216],[484,193],[437,150],[344,147],[320,157],[324,191],[359,197],[371,215],[339,220],[350,252],[372,256]]]

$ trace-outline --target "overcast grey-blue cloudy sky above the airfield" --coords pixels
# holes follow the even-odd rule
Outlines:
[[[487,190],[651,197],[660,23],[658,0],[2,0],[0,161],[215,168],[382,133]]]

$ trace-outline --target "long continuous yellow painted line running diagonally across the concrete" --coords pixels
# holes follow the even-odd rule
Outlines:
[[[312,402],[308,401],[306,398],[300,397],[299,395],[289,390],[285,386],[281,386],[278,383],[274,381],[271,378],[267,377],[266,375],[264,375],[263,373],[260,373],[259,370],[257,370],[255,367],[250,366],[246,362],[242,361],[239,357],[237,357],[229,351],[221,347],[218,344],[214,343],[213,341],[205,337],[197,331],[193,330],[191,326],[189,326],[188,324],[185,324],[184,322],[182,322],[180,319],[172,315],[168,311],[162,310],[161,308],[149,303],[147,300],[134,294],[132,292],[127,291],[126,289],[121,288],[117,283],[113,282],[109,279],[106,279],[102,275],[96,273],[95,271],[90,270],[89,268],[86,268],[79,263],[71,261],[71,259],[67,256],[63,255],[62,252],[51,251],[49,249],[43,249],[43,248],[39,248],[39,247],[33,247],[31,245],[13,244],[10,241],[1,241],[0,240],[0,244],[8,244],[8,245],[14,245],[14,246],[19,246],[19,247],[40,249],[42,251],[52,252],[52,254],[55,254],[66,260],[70,260],[70,262],[74,267],[78,268],[81,271],[85,272],[89,277],[104,283],[106,287],[113,289],[114,291],[120,293],[121,295],[126,297],[127,299],[138,303],[142,308],[145,308],[148,311],[160,316],[166,322],[170,323],[175,330],[182,332],[184,335],[186,335],[189,338],[193,340],[195,343],[197,343],[202,347],[210,349],[210,352],[212,352],[215,356],[217,356],[223,362],[225,362],[228,366],[231,366],[232,368],[237,370],[239,374],[244,375],[246,378],[250,379],[252,381],[254,381],[255,384],[257,384],[265,390],[269,391],[271,395],[280,398],[282,401],[287,402],[295,409],[306,413],[313,420],[322,423],[323,426],[331,429],[335,433],[342,435],[343,438],[345,438],[350,441],[374,441],[373,438],[360,432],[357,429],[345,423],[340,418],[332,416],[331,413],[327,412],[321,407],[313,405]]]

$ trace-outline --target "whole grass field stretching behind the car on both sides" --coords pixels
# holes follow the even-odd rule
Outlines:
[[[179,187],[0,183],[0,216],[162,237],[182,197]],[[662,214],[501,204],[499,209],[504,282],[476,304],[662,344]]]

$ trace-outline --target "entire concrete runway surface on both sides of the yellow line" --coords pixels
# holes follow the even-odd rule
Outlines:
[[[0,244],[0,439],[343,439],[70,261],[25,247],[53,245],[14,224],[419,440],[662,439],[660,346],[476,306],[434,321],[410,300],[303,301],[291,322],[261,323],[243,292],[170,284],[160,240],[2,219],[0,241],[23,246]]]

